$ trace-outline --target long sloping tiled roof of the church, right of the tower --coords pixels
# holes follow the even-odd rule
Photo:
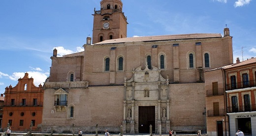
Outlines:
[[[176,35],[159,35],[159,36],[143,36],[143,37],[128,37],[105,40],[95,45],[115,44],[126,42],[152,42],[152,41],[169,41],[169,40],[187,40],[187,39],[202,39],[202,38],[220,38],[220,33],[192,33],[192,34],[176,34]]]

